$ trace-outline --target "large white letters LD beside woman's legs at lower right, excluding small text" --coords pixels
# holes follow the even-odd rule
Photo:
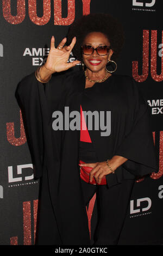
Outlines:
[[[140,208],[141,202],[146,202],[147,206],[144,208]],[[152,205],[152,201],[149,197],[139,198],[136,200],[136,206],[138,209],[134,210],[134,200],[131,200],[130,201],[130,214],[136,214],[137,212],[140,212],[140,211],[148,211],[151,208],[151,205]]]

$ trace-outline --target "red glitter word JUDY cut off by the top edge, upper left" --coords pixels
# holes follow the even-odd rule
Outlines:
[[[82,0],[83,15],[90,14],[91,0]],[[67,17],[61,16],[62,1],[54,0],[54,25],[68,26],[75,19],[75,0],[67,0]],[[43,26],[51,19],[51,0],[43,0],[43,16],[37,16],[36,0],[28,0],[28,12],[30,20],[39,26]],[[11,15],[11,0],[2,0],[3,16],[13,25],[20,24],[26,17],[26,1],[17,0],[17,15]]]

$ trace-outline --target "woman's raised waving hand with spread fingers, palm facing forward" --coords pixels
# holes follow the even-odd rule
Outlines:
[[[66,40],[66,38],[62,39],[58,47],[55,48],[55,39],[54,36],[52,36],[51,48],[46,63],[40,69],[40,76],[42,80],[46,80],[55,72],[65,71],[80,63],[79,60],[74,60],[73,62],[67,63],[72,48],[76,44],[76,37],[72,39],[70,45],[64,47]]]

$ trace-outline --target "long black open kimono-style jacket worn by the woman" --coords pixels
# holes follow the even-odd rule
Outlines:
[[[78,168],[79,130],[54,131],[54,111],[64,114],[64,107],[80,113],[80,102],[85,88],[83,71],[55,73],[47,84],[38,82],[31,74],[20,82],[16,97],[22,109],[27,141],[34,165],[35,178],[44,179],[49,193],[49,213],[43,214],[44,200],[40,208],[41,244],[89,245],[89,228],[83,202]],[[111,133],[101,136],[101,130],[90,130],[99,162],[114,155],[128,160],[118,167],[115,174],[106,175],[108,189],[122,179],[135,179],[157,171],[153,135],[149,120],[149,107],[129,76],[112,75],[103,83],[93,85],[94,108],[111,111]],[[90,109],[93,111],[92,109]],[[42,197],[43,198],[43,197]],[[41,213],[42,209],[42,213]],[[50,210],[51,209],[51,210]],[[42,215],[42,217],[41,217]],[[46,234],[43,222],[46,218],[55,230]],[[52,237],[53,236],[53,237]],[[46,241],[48,237],[48,241]],[[45,243],[44,243],[45,241]],[[38,243],[38,244],[39,244]]]

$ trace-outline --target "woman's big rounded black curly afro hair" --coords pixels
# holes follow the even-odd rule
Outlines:
[[[114,51],[111,59],[117,60],[124,44],[124,32],[121,23],[109,14],[92,13],[84,15],[74,21],[68,29],[66,45],[70,45],[74,36],[77,41],[72,49],[74,57],[82,60],[81,45],[87,34],[101,32],[109,39],[111,49]]]

